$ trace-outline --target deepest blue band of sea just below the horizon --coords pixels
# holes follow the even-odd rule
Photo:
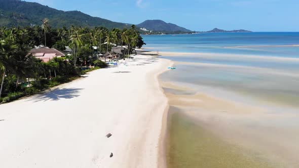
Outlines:
[[[298,48],[244,47],[299,45],[299,32],[200,33],[144,35],[146,46],[158,51],[191,53],[229,53],[281,57],[298,57]]]

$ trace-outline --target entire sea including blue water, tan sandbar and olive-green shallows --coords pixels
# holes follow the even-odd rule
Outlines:
[[[299,32],[142,37],[176,67],[160,75],[169,167],[299,166]]]

